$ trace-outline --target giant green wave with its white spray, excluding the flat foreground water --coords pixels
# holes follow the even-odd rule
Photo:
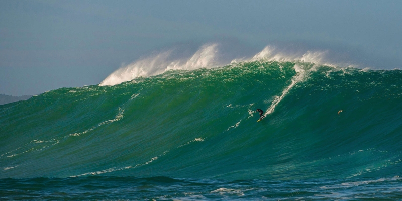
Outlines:
[[[61,88],[0,106],[0,177],[398,174],[400,70],[341,68],[325,52],[289,57],[270,47],[214,68],[215,48],[177,65],[167,57],[135,62],[113,86]],[[268,115],[258,123],[257,108]]]

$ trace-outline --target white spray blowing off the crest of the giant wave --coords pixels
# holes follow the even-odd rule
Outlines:
[[[277,62],[302,62],[331,67],[356,67],[342,62],[331,62],[328,59],[329,51],[307,51],[304,53],[290,53],[273,46],[266,46],[251,58],[222,58],[218,43],[205,44],[189,58],[175,59],[174,49],[161,52],[156,56],[149,56],[129,65],[123,66],[110,74],[99,86],[113,86],[122,82],[131,81],[137,77],[149,77],[162,74],[169,70],[195,70],[199,68],[222,67],[238,62],[252,62],[260,60]],[[229,59],[229,60],[228,60]],[[227,61],[231,61],[228,63]]]

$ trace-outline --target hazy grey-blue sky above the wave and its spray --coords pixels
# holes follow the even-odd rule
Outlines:
[[[209,42],[327,50],[360,68],[402,68],[402,1],[0,0],[0,93],[99,84],[155,51]]]

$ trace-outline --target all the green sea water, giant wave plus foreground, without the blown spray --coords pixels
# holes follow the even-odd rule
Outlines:
[[[257,58],[51,90],[0,106],[0,200],[402,199],[401,80]]]

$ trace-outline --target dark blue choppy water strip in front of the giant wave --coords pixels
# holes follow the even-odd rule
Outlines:
[[[306,179],[292,181],[78,177],[1,179],[3,199],[49,200],[386,200],[401,199],[402,181]]]

